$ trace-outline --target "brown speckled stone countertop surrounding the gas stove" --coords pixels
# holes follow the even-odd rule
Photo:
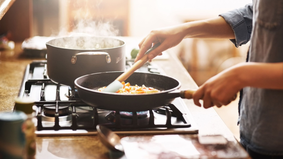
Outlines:
[[[121,37],[126,42],[126,51],[132,44],[138,44],[139,39]],[[177,59],[177,47],[167,50],[169,58],[154,59],[152,63],[159,65],[164,72],[182,83],[181,89],[197,89],[190,74]],[[16,43],[14,50],[1,50],[0,52],[0,112],[12,112],[25,67],[32,60],[40,58],[27,58],[22,54],[21,44]],[[232,132],[224,124],[213,108],[204,109],[194,105],[192,100],[184,100],[189,108],[192,118],[199,128],[199,135],[223,135],[236,144]],[[235,112],[237,113],[237,112]],[[236,123],[235,123],[236,124]],[[126,135],[119,135],[121,138]],[[98,136],[52,136],[37,137],[36,158],[111,158],[108,149],[100,142]]]

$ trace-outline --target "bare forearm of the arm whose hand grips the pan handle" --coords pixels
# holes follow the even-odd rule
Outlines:
[[[247,62],[240,64],[236,70],[242,87],[283,89],[283,62]]]

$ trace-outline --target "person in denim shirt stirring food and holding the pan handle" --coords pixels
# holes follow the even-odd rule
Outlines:
[[[218,17],[152,30],[135,59],[157,42],[151,60],[184,38],[228,38],[236,47],[251,41],[247,62],[211,77],[194,93],[195,105],[228,105],[240,93],[240,143],[252,158],[283,158],[283,1],[254,0]]]

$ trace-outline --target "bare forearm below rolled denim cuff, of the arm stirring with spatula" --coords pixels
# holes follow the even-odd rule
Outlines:
[[[235,39],[233,29],[221,16],[184,23],[180,27],[186,35],[185,38]]]

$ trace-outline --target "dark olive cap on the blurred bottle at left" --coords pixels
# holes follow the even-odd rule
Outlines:
[[[15,100],[15,109],[25,112],[26,114],[31,114],[34,112],[32,106],[34,105],[34,100],[31,98],[17,98]]]

